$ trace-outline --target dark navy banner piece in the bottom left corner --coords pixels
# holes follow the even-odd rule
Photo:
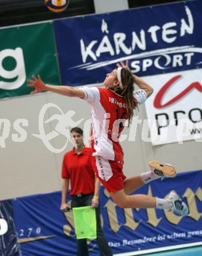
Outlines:
[[[19,256],[11,200],[0,201],[0,255]]]

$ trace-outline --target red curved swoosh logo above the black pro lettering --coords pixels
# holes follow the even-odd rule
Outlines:
[[[161,104],[161,100],[162,100],[163,96],[165,96],[165,93],[167,92],[169,87],[171,87],[171,85],[175,81],[180,79],[180,77],[182,77],[182,75],[176,75],[175,77],[172,77],[165,85],[163,85],[161,90],[155,96],[155,99],[153,102],[153,106],[155,106],[155,108],[164,108],[166,106],[169,106],[169,105],[173,104],[174,102],[180,100],[180,98],[184,97],[186,94],[188,94],[193,89],[197,89],[197,91],[202,93],[202,85],[199,82],[193,82],[184,91],[182,91],[182,93],[180,93],[179,95],[176,95],[174,98],[172,98],[172,100],[169,100],[165,104]]]

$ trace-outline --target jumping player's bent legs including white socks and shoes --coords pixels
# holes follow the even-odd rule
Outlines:
[[[176,177],[176,170],[172,165],[161,164],[159,161],[150,161],[150,171],[136,177],[126,179],[124,189],[110,192],[114,202],[122,208],[157,208],[167,209],[176,215],[188,215],[188,207],[182,202],[176,192],[171,191],[166,199],[153,198],[144,194],[130,195],[134,190],[155,179]]]

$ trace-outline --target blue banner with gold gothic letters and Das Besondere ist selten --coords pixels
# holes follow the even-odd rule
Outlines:
[[[175,190],[188,203],[190,213],[186,217],[160,209],[121,209],[101,186],[102,224],[112,253],[201,242],[201,184],[202,170],[153,181],[136,190],[136,194],[161,198]],[[60,202],[61,192],[12,200],[22,255],[76,255],[73,213],[62,213]],[[95,240],[89,240],[89,249],[91,255],[98,255]]]

